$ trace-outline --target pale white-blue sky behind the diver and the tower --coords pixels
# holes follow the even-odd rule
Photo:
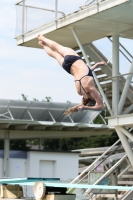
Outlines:
[[[16,46],[15,3],[18,1],[0,0],[0,99],[18,100],[22,99],[21,94],[25,94],[28,100],[37,98],[41,101],[46,96],[50,96],[56,102],[67,100],[80,102],[81,97],[76,93],[73,77],[66,73],[54,59],[47,56],[42,49]],[[37,1],[43,2],[43,5],[46,2],[46,0]],[[49,4],[54,3],[53,0],[47,1]],[[32,2],[35,3],[35,0]],[[75,2],[78,9],[83,1],[73,0],[73,5]],[[68,9],[70,6],[64,6],[64,8]],[[74,6],[71,7],[72,11],[73,8]],[[122,42],[133,54],[133,42],[131,40],[122,40]],[[98,41],[97,46],[101,47],[100,50],[107,57],[110,57],[111,48],[108,47],[106,40]],[[130,66],[123,58],[120,63],[124,72],[127,65],[128,68]]]

